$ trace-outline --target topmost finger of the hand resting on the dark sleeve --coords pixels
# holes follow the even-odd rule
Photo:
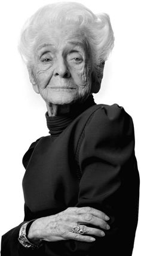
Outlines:
[[[82,213],[84,213],[84,214],[87,214],[87,213],[90,213],[91,215],[94,215],[94,216],[96,216],[97,218],[100,218],[100,219],[103,219],[103,220],[106,220],[106,221],[108,221],[110,218],[109,218],[109,216],[107,216],[104,212],[102,212],[101,210],[97,210],[97,209],[95,209],[95,208],[93,208],[93,207],[77,207],[77,210],[76,210],[76,212],[78,213],[78,214],[82,214]]]

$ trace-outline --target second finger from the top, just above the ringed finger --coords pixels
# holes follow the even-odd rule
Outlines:
[[[76,223],[81,223],[81,224],[92,224],[97,227],[103,228],[105,230],[110,229],[110,226],[107,224],[106,221],[103,221],[103,219],[97,218],[97,217],[91,215],[90,213],[76,215],[75,221],[76,221]]]

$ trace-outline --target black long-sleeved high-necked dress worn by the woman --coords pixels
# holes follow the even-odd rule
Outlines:
[[[139,206],[131,117],[117,104],[95,104],[91,95],[69,116],[46,118],[51,135],[23,157],[24,221],[91,206],[110,217],[111,229],[92,243],[44,242],[32,250],[18,241],[22,222],[2,236],[1,256],[131,256]]]

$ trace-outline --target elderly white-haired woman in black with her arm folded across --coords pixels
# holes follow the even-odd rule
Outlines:
[[[139,201],[133,121],[92,95],[113,46],[109,16],[75,2],[47,5],[24,26],[20,52],[50,135],[23,156],[24,221],[2,236],[1,256],[131,256]]]

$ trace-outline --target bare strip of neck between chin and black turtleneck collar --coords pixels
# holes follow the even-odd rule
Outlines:
[[[70,112],[70,104],[65,105],[56,105],[56,104],[46,104],[48,116],[59,116],[63,114],[67,114]]]

